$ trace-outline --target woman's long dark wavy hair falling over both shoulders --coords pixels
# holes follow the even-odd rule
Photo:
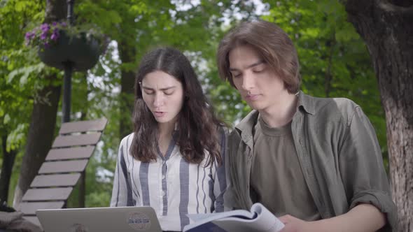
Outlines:
[[[174,48],[157,48],[141,59],[134,85],[134,138],[130,147],[134,159],[151,162],[158,156],[158,122],[146,106],[139,85],[148,73],[154,71],[168,73],[182,83],[184,102],[174,139],[183,158],[200,164],[207,151],[207,166],[214,161],[222,164],[218,131],[224,124],[214,115],[190,61]]]

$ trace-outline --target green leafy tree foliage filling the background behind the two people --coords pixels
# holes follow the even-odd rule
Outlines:
[[[44,20],[45,2],[0,0],[0,164],[7,152],[17,152],[8,204],[18,180],[25,138],[36,94],[48,82],[62,82],[62,71],[44,66],[36,51],[25,46],[25,32]],[[109,205],[113,171],[120,143],[120,122],[130,122],[123,92],[123,71],[134,71],[146,51],[160,45],[183,50],[196,68],[204,92],[216,113],[230,125],[250,110],[228,83],[218,78],[215,52],[225,31],[240,20],[262,18],[279,24],[297,47],[302,90],[313,96],[346,97],[358,103],[379,138],[386,168],[386,124],[377,80],[367,49],[338,1],[149,1],[84,0],[74,7],[77,23],[97,24],[112,41],[99,64],[72,78],[72,121],[106,117],[109,124],[86,174],[86,206]],[[118,45],[132,52],[122,61]],[[45,76],[57,73],[56,80]],[[59,107],[61,109],[61,107]],[[62,113],[57,112],[56,133]],[[131,126],[132,124],[130,124]],[[132,131],[132,128],[130,129]],[[77,205],[77,189],[69,207]]]

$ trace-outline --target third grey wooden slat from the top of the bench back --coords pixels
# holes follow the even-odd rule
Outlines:
[[[58,159],[88,159],[92,156],[94,146],[57,148],[49,151],[46,161]]]

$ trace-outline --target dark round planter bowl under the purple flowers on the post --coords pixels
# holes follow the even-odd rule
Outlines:
[[[63,70],[65,64],[71,62],[74,71],[86,71],[97,63],[100,47],[96,39],[87,39],[84,34],[68,36],[65,31],[59,33],[57,44],[47,48],[41,46],[38,50],[43,63]]]

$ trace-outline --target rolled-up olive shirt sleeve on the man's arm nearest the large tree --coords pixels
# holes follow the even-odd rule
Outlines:
[[[386,231],[397,223],[383,158],[376,133],[359,106],[349,116],[346,136],[339,149],[339,168],[350,209],[369,203],[386,215]]]

